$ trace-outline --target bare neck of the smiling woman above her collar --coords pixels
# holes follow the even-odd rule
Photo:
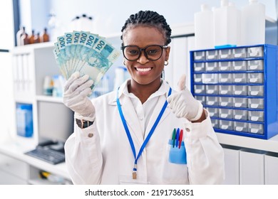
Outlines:
[[[132,92],[136,97],[138,97],[143,104],[147,99],[156,92],[161,85],[161,81],[157,80],[155,82],[151,82],[148,85],[140,85],[138,82],[134,80],[130,80],[128,83],[128,92]]]

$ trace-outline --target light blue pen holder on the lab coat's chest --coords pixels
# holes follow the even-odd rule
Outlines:
[[[173,144],[173,140],[169,139],[170,146],[169,159],[170,163],[186,164],[185,142],[182,141],[180,145]]]

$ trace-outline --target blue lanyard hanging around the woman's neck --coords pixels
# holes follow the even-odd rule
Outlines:
[[[169,92],[168,92],[168,96],[171,95],[171,92],[172,92],[172,89],[170,87]],[[119,100],[118,92],[117,92],[117,106],[118,106],[118,111],[119,111],[119,114],[120,114],[120,119],[122,119],[123,127],[125,128],[125,133],[128,136],[128,141],[130,143],[130,147],[133,151],[133,156],[134,156],[134,159],[135,159],[134,167],[133,167],[133,179],[136,179],[138,158],[141,156],[143,150],[145,149],[145,146],[148,144],[148,141],[150,140],[150,137],[153,135],[153,132],[155,131],[155,128],[158,126],[158,122],[160,121],[161,117],[163,116],[163,113],[165,112],[167,104],[168,104],[168,102],[167,102],[167,100],[165,100],[163,108],[161,109],[160,113],[158,114],[158,118],[155,120],[155,124],[153,124],[152,129],[150,129],[150,133],[148,134],[147,138],[143,142],[143,144],[142,144],[142,146],[139,150],[138,156],[136,157],[136,151],[135,151],[135,147],[134,147],[134,144],[133,144],[133,139],[131,138],[130,131],[128,129],[128,124],[126,124],[126,122],[125,122],[125,117],[123,116],[123,111],[122,111],[122,108],[120,107],[120,100]]]

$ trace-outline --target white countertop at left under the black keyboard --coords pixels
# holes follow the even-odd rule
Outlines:
[[[16,141],[6,141],[0,143],[0,154],[16,158],[19,161],[24,161],[31,166],[71,180],[68,174],[68,170],[66,169],[66,163],[58,163],[56,165],[52,165],[51,163],[47,163],[45,161],[41,161],[37,158],[33,158],[24,154],[25,152],[31,151],[32,149],[35,149],[35,147],[26,146]]]

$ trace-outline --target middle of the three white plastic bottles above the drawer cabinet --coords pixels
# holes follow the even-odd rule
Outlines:
[[[213,11],[215,48],[237,46],[240,26],[239,10],[227,0],[221,0],[221,6]]]

